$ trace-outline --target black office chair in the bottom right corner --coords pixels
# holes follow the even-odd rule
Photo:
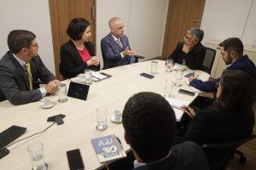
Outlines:
[[[234,156],[234,154],[238,154],[240,156],[240,162],[244,163],[247,161],[246,156],[239,151],[236,150],[241,144],[247,143],[247,141],[254,139],[255,135],[251,134],[249,137],[244,139],[238,139],[231,142],[219,143],[219,144],[202,144],[202,148],[206,153],[207,160],[211,167],[211,170],[224,170],[226,169],[230,158]]]

